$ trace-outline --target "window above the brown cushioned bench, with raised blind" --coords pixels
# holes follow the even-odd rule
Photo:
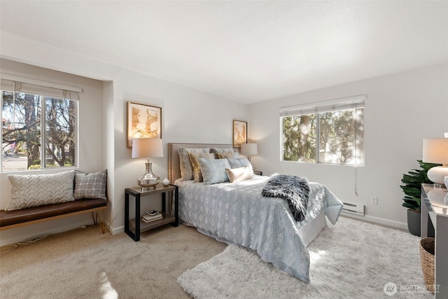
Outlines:
[[[1,79],[1,172],[76,166],[80,90],[34,83]]]

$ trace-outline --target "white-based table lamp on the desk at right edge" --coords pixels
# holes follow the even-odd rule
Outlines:
[[[444,185],[448,176],[448,138],[423,139],[423,162],[442,164],[428,170],[428,179],[437,185]]]

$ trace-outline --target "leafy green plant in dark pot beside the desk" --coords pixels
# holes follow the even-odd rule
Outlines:
[[[417,160],[421,169],[412,169],[407,174],[403,174],[402,183],[400,186],[405,193],[402,203],[403,207],[407,208],[407,228],[412,235],[419,236],[420,232],[420,207],[421,207],[421,184],[432,183],[428,179],[428,170],[440,164],[426,163]]]

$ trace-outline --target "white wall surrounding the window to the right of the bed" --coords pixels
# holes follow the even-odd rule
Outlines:
[[[263,174],[324,183],[339,199],[366,204],[366,220],[407,228],[400,180],[419,167],[422,139],[448,132],[447,74],[444,64],[251,104],[248,137],[258,142],[259,151],[253,164]],[[367,94],[364,167],[280,161],[280,107],[362,94]],[[378,197],[378,205],[370,204],[371,196]]]

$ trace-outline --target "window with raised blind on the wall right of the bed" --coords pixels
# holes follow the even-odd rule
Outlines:
[[[282,108],[282,160],[363,165],[365,98]]]

